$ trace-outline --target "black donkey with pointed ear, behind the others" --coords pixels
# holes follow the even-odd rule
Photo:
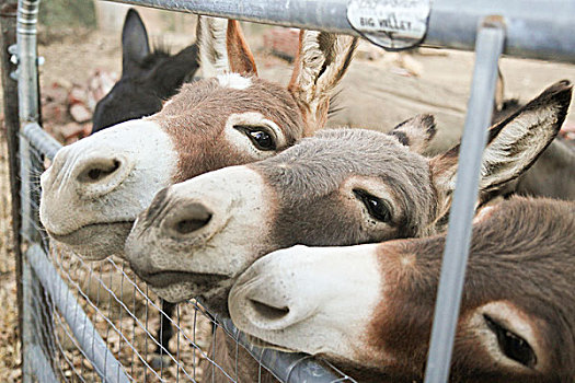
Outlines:
[[[122,78],[96,104],[92,134],[160,112],[163,101],[196,73],[197,56],[196,44],[174,56],[162,49],[151,51],[140,15],[128,10],[122,31]]]

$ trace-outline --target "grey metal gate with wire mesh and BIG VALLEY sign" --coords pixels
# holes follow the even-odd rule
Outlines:
[[[38,222],[39,174],[60,148],[41,127],[36,57],[39,0],[20,0],[18,44],[9,48],[18,65],[20,123],[12,127],[14,214],[21,268],[24,381],[197,381],[210,372],[238,378],[238,358],[246,352],[260,365],[258,380],[271,372],[283,382],[353,382],[334,365],[301,353],[250,345],[231,322],[221,321],[202,302],[179,305],[162,315],[156,297],[114,258],[84,263],[50,244]],[[497,60],[502,53],[575,62],[571,0],[122,0],[159,9],[243,21],[361,35],[390,49],[419,44],[475,49],[475,70],[461,144],[460,167],[444,254],[426,382],[445,382],[463,286],[478,195],[480,161],[491,120]],[[407,24],[370,23],[392,15]],[[411,19],[410,19],[411,18]],[[401,20],[400,20],[401,21]],[[386,24],[384,26],[382,26]],[[3,67],[5,72],[5,66]],[[5,73],[4,73],[5,74]],[[4,90],[10,92],[5,86]],[[12,96],[16,96],[12,94]],[[16,173],[18,172],[18,173]],[[20,254],[20,253],[19,253]],[[162,348],[150,328],[170,321],[171,347]],[[218,329],[219,330],[216,330]],[[208,334],[207,337],[204,335]],[[209,334],[212,336],[209,337]],[[219,334],[219,335],[218,335]],[[235,345],[235,367],[217,360],[216,336]],[[174,350],[175,349],[175,350]],[[153,350],[160,355],[154,364]],[[157,356],[156,356],[157,357]],[[157,360],[156,360],[157,361]],[[207,371],[207,370],[211,371]]]

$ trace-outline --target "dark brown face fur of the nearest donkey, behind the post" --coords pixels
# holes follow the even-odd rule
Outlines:
[[[549,199],[504,201],[473,228],[452,381],[571,382],[575,378],[575,204]],[[394,241],[379,248],[384,303],[369,329],[371,346],[396,362],[390,381],[422,380],[445,235]],[[415,266],[398,258],[415,255]],[[540,321],[550,363],[541,372],[511,374],[494,368],[465,328],[465,318],[491,301],[507,300]],[[561,347],[557,347],[561,345]],[[369,360],[367,364],[376,364]]]

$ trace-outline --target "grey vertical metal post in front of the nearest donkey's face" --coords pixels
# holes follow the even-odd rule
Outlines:
[[[425,383],[449,378],[453,339],[471,241],[471,224],[479,194],[481,160],[492,118],[497,61],[505,30],[501,18],[490,18],[478,31],[475,69],[465,127],[461,139],[453,204],[449,214],[444,262],[435,306]]]

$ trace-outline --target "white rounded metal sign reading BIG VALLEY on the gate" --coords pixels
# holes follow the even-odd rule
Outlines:
[[[425,38],[430,9],[430,0],[350,0],[347,20],[371,43],[402,50]]]

